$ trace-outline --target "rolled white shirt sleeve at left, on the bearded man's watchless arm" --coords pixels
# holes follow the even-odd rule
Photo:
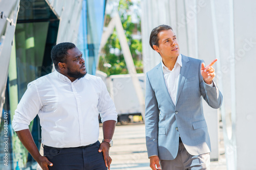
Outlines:
[[[36,85],[28,84],[28,89],[20,100],[12,120],[14,131],[29,129],[30,122],[35,118],[41,109],[41,101]]]

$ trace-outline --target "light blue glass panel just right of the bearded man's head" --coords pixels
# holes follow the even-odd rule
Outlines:
[[[83,53],[87,72],[91,75],[96,73],[98,52],[103,32],[104,13],[106,1],[84,0],[81,13],[81,22],[77,47]]]

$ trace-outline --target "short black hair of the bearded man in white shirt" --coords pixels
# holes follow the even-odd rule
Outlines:
[[[58,69],[58,63],[65,63],[68,55],[68,50],[75,48],[76,45],[71,42],[61,42],[55,45],[51,51],[51,58],[55,69]]]

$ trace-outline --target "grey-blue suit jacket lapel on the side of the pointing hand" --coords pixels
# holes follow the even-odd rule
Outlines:
[[[182,67],[180,68],[180,78],[179,78],[179,83],[178,83],[176,104],[179,100],[179,96],[180,96],[181,90],[182,90],[184,82],[185,82],[185,77],[187,76],[189,65],[190,65],[190,63],[189,63],[188,57],[182,55]]]

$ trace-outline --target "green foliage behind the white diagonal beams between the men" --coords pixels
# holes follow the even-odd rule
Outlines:
[[[125,30],[125,36],[130,47],[137,73],[141,73],[143,72],[143,63],[141,58],[142,43],[141,39],[133,39],[134,32],[140,33],[141,29],[140,23],[138,24],[132,22],[132,16],[129,14],[129,7],[132,5],[133,3],[131,1],[120,0],[118,11],[123,29]],[[140,21],[139,16],[137,17]],[[105,26],[108,26],[110,20],[111,16],[107,14]],[[116,30],[114,30],[113,34],[109,37],[102,51],[103,54],[100,56],[99,59],[99,70],[105,72],[108,76],[128,74]],[[113,51],[115,53],[113,53]]]

